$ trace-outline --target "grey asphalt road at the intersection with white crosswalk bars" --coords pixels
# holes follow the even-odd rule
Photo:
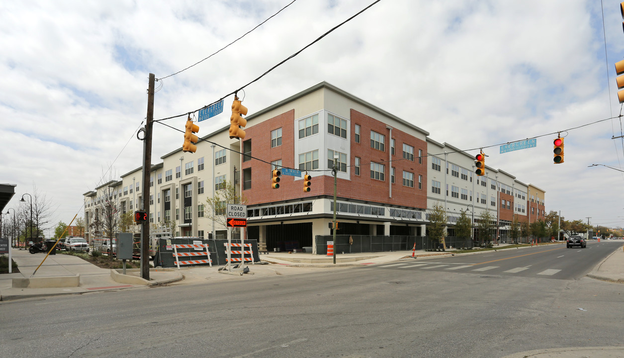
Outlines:
[[[618,248],[590,242],[586,249],[414,260],[472,265],[455,270],[278,271],[240,282],[2,302],[0,356],[502,357],[621,346],[623,286],[583,277]],[[497,268],[470,270],[488,266]],[[562,271],[539,274],[549,269]]]

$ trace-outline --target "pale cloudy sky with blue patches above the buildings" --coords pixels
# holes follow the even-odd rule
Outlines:
[[[54,223],[83,216],[82,194],[109,168],[119,178],[141,165],[135,132],[149,73],[162,79],[195,64],[291,1],[0,0],[0,183],[17,185],[7,207],[36,187]],[[155,119],[220,99],[373,1],[294,1],[158,81]],[[246,87],[245,105],[253,114],[327,81],[437,142],[493,146],[487,164],[545,190],[547,211],[624,226],[624,173],[588,168],[624,167],[624,140],[612,139],[622,122],[609,120],[622,109],[613,67],[622,44],[614,0],[381,0]],[[199,134],[227,125],[225,112]],[[565,163],[553,165],[560,131]],[[535,148],[498,154],[497,145],[533,137]],[[157,163],[182,134],[155,125],[153,145]]]

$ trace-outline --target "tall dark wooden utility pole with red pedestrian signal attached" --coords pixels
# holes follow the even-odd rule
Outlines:
[[[154,74],[147,87],[147,119],[143,138],[143,210],[150,217],[150,170],[152,168],[152,125],[154,121]],[[182,168],[180,168],[182,170]],[[150,279],[150,222],[141,225],[141,278]]]

